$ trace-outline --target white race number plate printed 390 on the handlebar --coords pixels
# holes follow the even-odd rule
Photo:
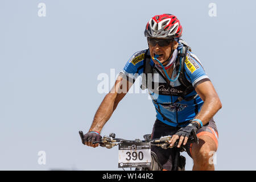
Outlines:
[[[118,147],[118,168],[150,167],[150,143],[120,143]]]

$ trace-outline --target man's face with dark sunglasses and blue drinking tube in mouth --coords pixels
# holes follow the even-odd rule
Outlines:
[[[153,40],[153,44],[151,44],[150,40]],[[154,40],[156,40],[156,44],[154,42]],[[160,42],[158,42],[160,41]],[[165,43],[164,42],[161,42],[161,41],[166,41]],[[171,50],[172,49],[176,49],[176,43],[175,41],[173,40],[166,40],[166,39],[148,39],[148,46],[150,48],[150,55],[151,57],[154,57],[155,55],[159,55],[159,57],[157,58],[160,63],[164,63],[164,61],[166,61],[169,57],[170,57],[170,54],[171,54]],[[155,46],[154,46],[155,44]],[[159,46],[160,44],[160,46]],[[159,64],[158,61],[152,59],[154,61],[155,64]]]

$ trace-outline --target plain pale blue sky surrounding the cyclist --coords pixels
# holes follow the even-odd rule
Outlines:
[[[46,4],[46,17],[38,4]],[[216,3],[217,16],[208,7]],[[105,94],[98,75],[115,74],[147,48],[144,28],[174,14],[203,63],[222,109],[216,114],[217,170],[255,170],[255,1],[0,1],[0,169],[122,170],[118,147],[81,143]],[[112,85],[111,85],[112,86]],[[147,94],[127,94],[102,130],[135,139],[150,134]],[[38,152],[46,152],[46,165]],[[187,170],[192,159],[187,157]]]

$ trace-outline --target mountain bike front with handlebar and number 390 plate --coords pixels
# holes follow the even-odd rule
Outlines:
[[[82,143],[84,143],[84,134],[79,131]],[[185,170],[185,157],[180,155],[185,151],[185,146],[181,145],[177,148],[178,140],[173,147],[170,147],[168,142],[171,139],[171,135],[164,136],[157,139],[151,139],[150,134],[143,136],[144,140],[135,139],[127,140],[122,138],[115,138],[114,133],[110,133],[109,136],[104,136],[101,141],[93,142],[93,144],[100,144],[101,147],[113,148],[118,146],[118,168],[135,168],[135,171],[162,171],[163,167],[160,164],[155,152],[151,151],[151,146],[158,146],[164,149],[174,148],[175,156],[173,160],[172,171],[184,171]],[[199,143],[196,136],[196,132],[192,131],[192,136],[189,137],[187,143]]]

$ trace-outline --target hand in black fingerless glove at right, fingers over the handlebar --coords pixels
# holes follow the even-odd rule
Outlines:
[[[197,122],[191,122],[189,123],[188,126],[181,127],[181,129],[179,129],[177,133],[172,136],[170,140],[170,146],[174,146],[174,143],[176,142],[177,139],[180,139],[179,143],[177,144],[178,148],[181,146],[183,140],[183,145],[185,145],[188,141],[188,138],[191,137],[192,131],[195,130],[197,133],[199,129],[200,125]]]

